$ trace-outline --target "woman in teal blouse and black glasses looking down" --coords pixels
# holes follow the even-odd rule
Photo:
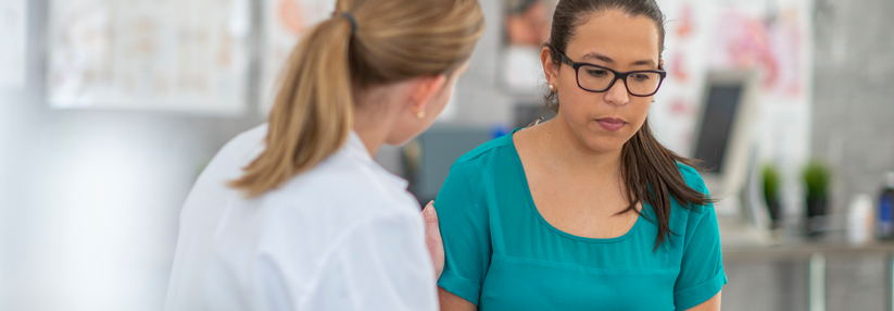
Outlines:
[[[558,2],[557,116],[459,158],[436,200],[442,310],[719,310],[707,189],[646,122],[663,25],[654,0]]]

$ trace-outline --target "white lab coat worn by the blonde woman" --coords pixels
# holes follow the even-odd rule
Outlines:
[[[196,182],[165,310],[437,310],[419,204],[355,133],[316,167],[257,198],[226,186],[267,126],[230,140]]]

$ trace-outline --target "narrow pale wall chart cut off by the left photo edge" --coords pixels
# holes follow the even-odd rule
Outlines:
[[[25,0],[0,0],[0,88],[25,85]]]

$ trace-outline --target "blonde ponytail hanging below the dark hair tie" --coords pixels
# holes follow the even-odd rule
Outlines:
[[[270,111],[267,149],[231,187],[260,196],[316,166],[344,144],[353,123],[351,37],[351,22],[338,16],[313,27],[299,42]]]

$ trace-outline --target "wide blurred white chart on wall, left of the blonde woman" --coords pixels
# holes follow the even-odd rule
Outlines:
[[[245,108],[250,0],[55,0],[49,24],[53,108]]]

